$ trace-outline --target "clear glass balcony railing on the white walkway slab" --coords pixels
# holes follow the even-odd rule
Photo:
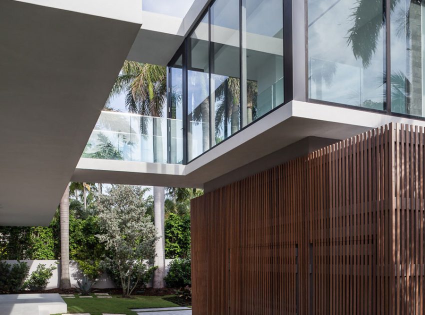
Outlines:
[[[102,111],[82,157],[181,164],[182,121]]]

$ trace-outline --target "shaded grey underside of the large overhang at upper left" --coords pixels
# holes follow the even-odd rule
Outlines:
[[[140,29],[129,20],[0,1],[0,225],[49,223]]]

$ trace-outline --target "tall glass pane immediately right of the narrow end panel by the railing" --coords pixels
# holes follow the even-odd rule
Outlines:
[[[209,148],[208,16],[188,38],[187,153],[193,159]]]

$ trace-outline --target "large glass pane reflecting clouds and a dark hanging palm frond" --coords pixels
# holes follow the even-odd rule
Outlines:
[[[309,98],[383,109],[383,0],[308,0]]]

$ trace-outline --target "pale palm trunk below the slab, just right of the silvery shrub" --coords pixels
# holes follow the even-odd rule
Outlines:
[[[154,224],[159,235],[159,239],[155,244],[155,266],[158,268],[153,274],[153,287],[164,287],[164,274],[165,274],[165,241],[164,241],[164,200],[165,190],[164,187],[153,187],[153,213]]]

